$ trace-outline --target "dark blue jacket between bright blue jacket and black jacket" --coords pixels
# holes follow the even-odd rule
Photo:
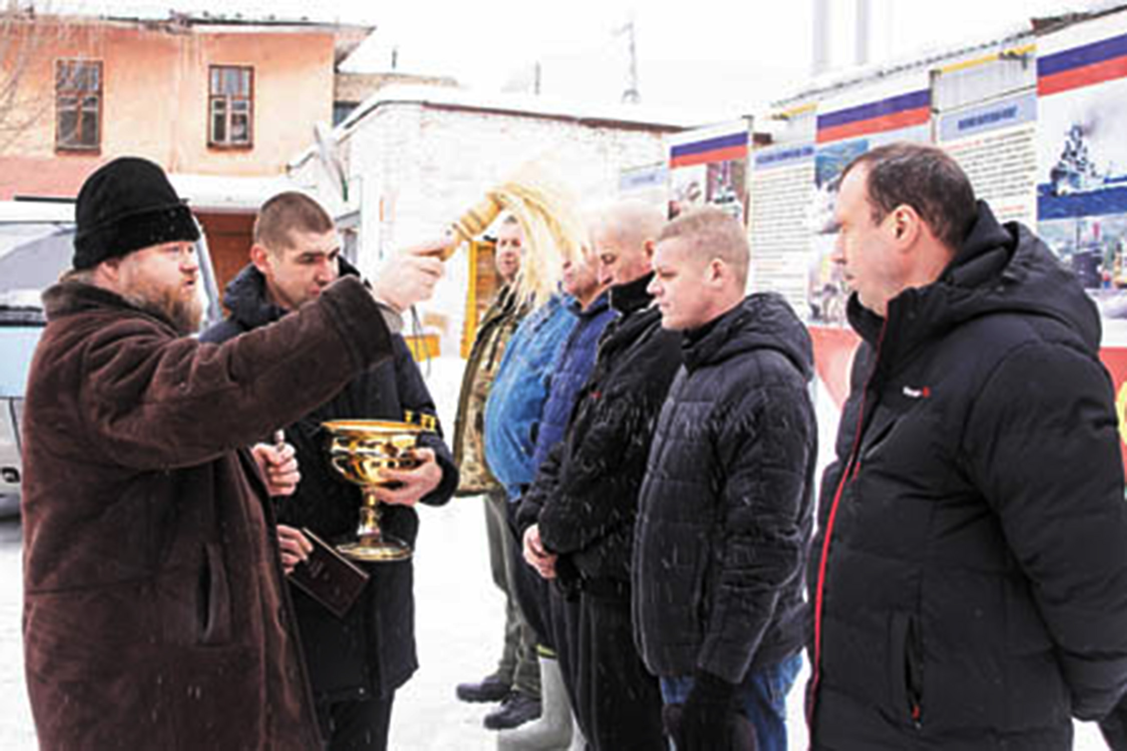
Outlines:
[[[536,450],[532,457],[532,464],[536,467],[548,456],[551,447],[564,439],[567,421],[571,417],[579,390],[587,383],[591,368],[595,365],[603,329],[618,315],[611,307],[609,292],[600,295],[587,310],[579,306],[579,301],[570,302],[568,307],[577,321],[564,343],[564,349],[560,350],[556,367],[552,368],[550,392],[540,418]]]

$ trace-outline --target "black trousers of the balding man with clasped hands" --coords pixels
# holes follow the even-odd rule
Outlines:
[[[624,585],[593,591],[592,583],[585,582],[579,594],[571,634],[557,644],[565,680],[575,681],[573,708],[587,748],[666,751],[662,690],[635,649],[630,592]]]

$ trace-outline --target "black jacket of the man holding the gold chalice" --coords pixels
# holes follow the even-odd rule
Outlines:
[[[341,270],[355,274],[344,261]],[[231,314],[205,331],[201,337],[204,341],[224,341],[285,313],[268,299],[265,279],[254,266],[231,280],[223,303]],[[346,482],[329,464],[322,422],[346,418],[402,420],[405,410],[435,413],[434,401],[402,337],[392,340],[392,360],[366,370],[330,401],[286,428],[286,440],[298,450],[301,482],[293,495],[276,499],[278,522],[308,527],[329,543],[355,538],[361,489]],[[423,502],[445,503],[458,485],[450,449],[441,435],[424,435],[419,442],[434,449],[443,470],[442,483]],[[385,504],[381,507],[380,526],[389,535],[414,544],[418,515],[408,507]],[[319,701],[387,696],[418,668],[410,561],[358,565],[371,579],[343,620],[291,587],[310,680]]]

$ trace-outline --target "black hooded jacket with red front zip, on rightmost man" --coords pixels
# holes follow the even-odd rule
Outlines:
[[[938,281],[884,320],[854,296],[850,321],[863,342],[809,570],[813,748],[1072,748],[1071,716],[1127,685],[1095,306],[982,204]]]

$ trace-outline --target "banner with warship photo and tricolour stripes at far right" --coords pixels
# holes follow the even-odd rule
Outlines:
[[[1038,233],[1110,319],[1127,319],[1127,35],[1038,60]]]

